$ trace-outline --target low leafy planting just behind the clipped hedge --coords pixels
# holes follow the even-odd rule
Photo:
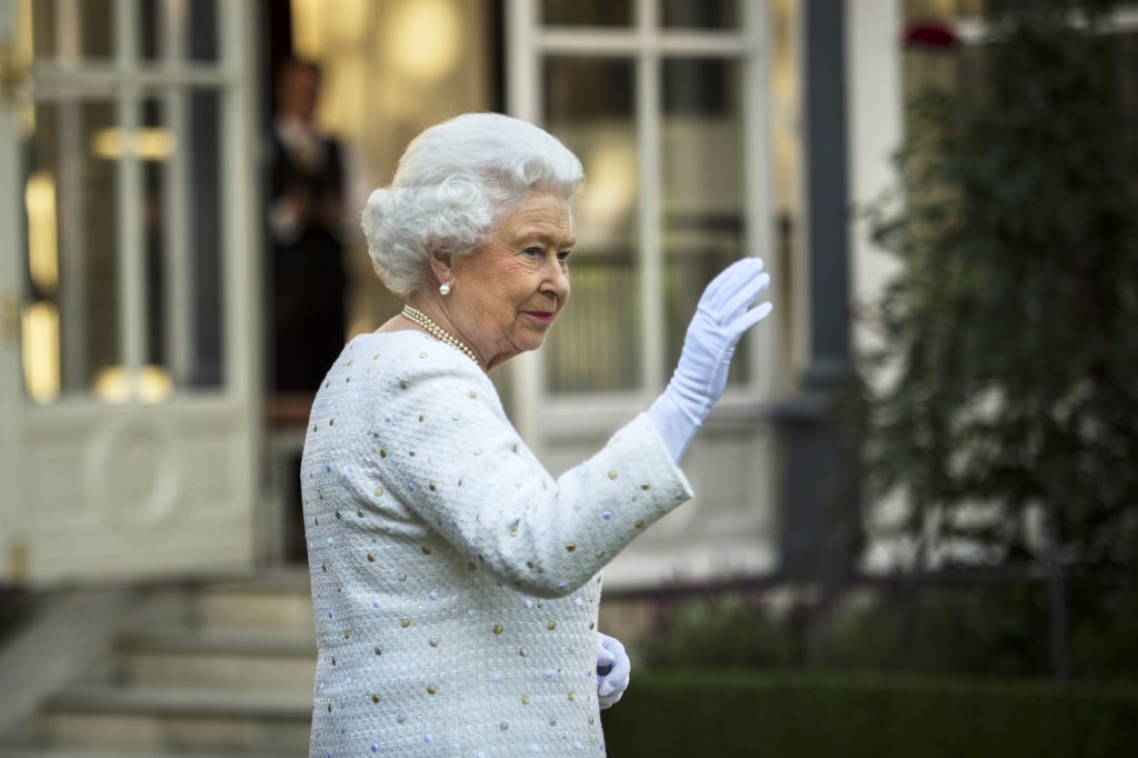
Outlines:
[[[1072,582],[1073,661],[1083,682],[1138,682],[1138,582]],[[633,653],[648,670],[808,669],[1033,677],[1052,674],[1046,587],[1007,582],[848,591],[775,619],[742,594],[678,601]],[[640,668],[640,667],[638,667]]]

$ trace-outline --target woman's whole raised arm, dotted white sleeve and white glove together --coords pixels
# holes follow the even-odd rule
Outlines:
[[[716,277],[660,399],[556,480],[486,376],[435,344],[376,378],[369,468],[472,567],[535,595],[566,595],[691,497],[676,462],[723,393],[735,345],[770,312],[752,308],[769,280],[757,258]]]

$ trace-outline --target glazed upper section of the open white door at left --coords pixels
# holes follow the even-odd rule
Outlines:
[[[27,396],[162,402],[225,381],[217,0],[23,2]]]

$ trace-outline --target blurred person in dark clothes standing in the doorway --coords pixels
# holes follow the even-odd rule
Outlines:
[[[277,80],[269,228],[273,389],[315,393],[344,347],[344,162],[316,130],[320,68],[288,60]]]

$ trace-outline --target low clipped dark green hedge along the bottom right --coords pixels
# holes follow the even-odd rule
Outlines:
[[[613,758],[1115,758],[1138,755],[1138,687],[634,673],[603,722]]]

